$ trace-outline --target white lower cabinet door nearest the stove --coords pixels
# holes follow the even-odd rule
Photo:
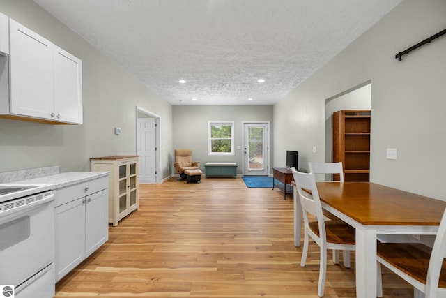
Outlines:
[[[56,281],[85,256],[85,198],[63,204],[55,211]]]

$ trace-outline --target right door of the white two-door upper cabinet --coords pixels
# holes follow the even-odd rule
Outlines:
[[[82,61],[54,45],[54,117],[82,124]]]

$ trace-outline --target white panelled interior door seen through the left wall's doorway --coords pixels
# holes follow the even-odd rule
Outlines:
[[[139,183],[155,184],[155,119],[138,118],[137,155],[139,155]]]

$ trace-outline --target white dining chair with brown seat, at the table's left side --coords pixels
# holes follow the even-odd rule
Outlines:
[[[311,237],[320,248],[318,296],[323,297],[327,273],[327,250],[354,251],[355,228],[344,221],[325,221],[314,173],[298,172],[295,168],[291,170],[304,218],[304,246],[300,266],[305,267],[309,237]],[[309,218],[313,216],[316,221],[310,222]]]

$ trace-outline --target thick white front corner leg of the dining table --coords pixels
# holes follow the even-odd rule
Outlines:
[[[376,298],[376,228],[356,228],[356,297]]]

